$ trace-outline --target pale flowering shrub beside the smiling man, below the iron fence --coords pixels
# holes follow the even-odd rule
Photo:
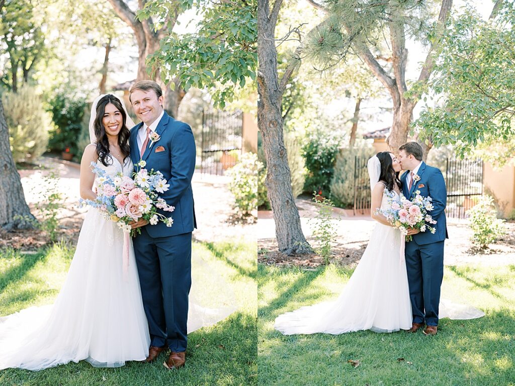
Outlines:
[[[258,155],[249,152],[227,172],[231,177],[229,190],[234,196],[233,209],[238,218],[256,218],[252,212],[258,207],[258,170],[262,167]]]

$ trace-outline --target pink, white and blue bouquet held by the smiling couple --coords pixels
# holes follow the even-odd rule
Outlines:
[[[92,162],[91,169],[99,182],[97,197],[95,200],[80,200],[82,204],[97,208],[107,219],[116,222],[124,233],[130,232],[131,236],[136,232],[141,234],[139,228],[131,229],[130,225],[141,218],[152,225],[162,221],[166,226],[171,226],[174,220],[158,213],[157,210],[173,212],[175,209],[158,196],[169,187],[163,179],[163,174],[153,169],[145,169],[146,162],[143,160],[135,166],[138,166],[139,170],[132,173],[133,178],[123,176],[122,173],[111,178],[104,169]]]

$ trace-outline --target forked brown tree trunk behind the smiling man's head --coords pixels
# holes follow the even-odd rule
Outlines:
[[[177,85],[175,90],[171,90],[168,85],[164,84],[160,77],[158,68],[151,68],[150,73],[147,73],[147,66],[145,63],[147,58],[159,49],[159,42],[165,37],[168,31],[167,28],[162,27],[159,31],[155,31],[150,19],[140,22],[136,19],[136,14],[131,11],[123,0],[109,0],[109,3],[111,3],[118,17],[127,23],[134,31],[139,52],[138,75],[136,76],[136,80],[152,79],[160,83],[163,88],[163,96],[165,99],[163,108],[171,116],[177,117],[179,106],[186,93]],[[143,6],[143,0],[140,0],[140,9],[143,8]],[[176,8],[174,14],[168,16],[163,25],[169,26],[171,31],[171,28],[173,28],[177,22],[178,16],[179,7]],[[176,83],[177,81],[174,80],[174,82]]]

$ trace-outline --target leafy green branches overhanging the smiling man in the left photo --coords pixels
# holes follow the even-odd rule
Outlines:
[[[159,68],[162,79],[184,91],[190,87],[208,89],[218,106],[232,101],[235,85],[243,88],[255,80],[257,21],[256,1],[190,0],[179,2],[180,9],[196,7],[202,19],[196,32],[179,36],[169,33],[149,64]],[[177,12],[177,2],[153,0],[138,14],[140,20],[152,14],[167,20]]]

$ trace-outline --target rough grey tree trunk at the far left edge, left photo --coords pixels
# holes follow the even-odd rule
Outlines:
[[[35,217],[25,202],[20,174],[16,170],[9,145],[9,131],[0,98],[0,227],[12,229],[33,229]]]

